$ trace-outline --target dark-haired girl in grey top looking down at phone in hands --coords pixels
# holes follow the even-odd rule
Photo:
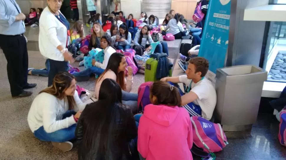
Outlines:
[[[116,49],[126,50],[131,48],[131,33],[128,32],[127,27],[124,24],[119,26],[119,35],[114,37],[116,38]]]

